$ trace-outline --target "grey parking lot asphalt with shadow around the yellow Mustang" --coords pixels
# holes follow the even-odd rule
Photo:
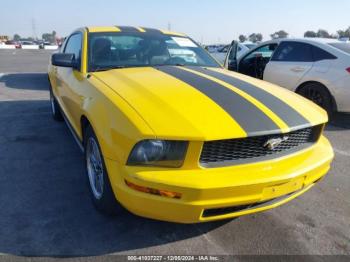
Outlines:
[[[0,50],[0,253],[350,254],[350,117],[326,136],[336,157],[328,176],[268,212],[182,225],[124,212],[98,213],[83,156],[50,114],[48,51]]]

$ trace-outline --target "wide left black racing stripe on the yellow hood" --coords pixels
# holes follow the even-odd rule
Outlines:
[[[229,88],[174,66],[161,66],[157,69],[205,94],[224,109],[248,136],[281,133],[280,128],[264,112]]]

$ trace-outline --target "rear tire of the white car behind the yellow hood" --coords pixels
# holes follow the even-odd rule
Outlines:
[[[308,83],[302,86],[297,93],[322,107],[327,111],[328,117],[332,117],[334,113],[333,100],[325,86],[319,83]]]

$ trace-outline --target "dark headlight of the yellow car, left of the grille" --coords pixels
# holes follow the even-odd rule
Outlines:
[[[187,146],[186,141],[143,140],[132,149],[127,165],[180,167]]]

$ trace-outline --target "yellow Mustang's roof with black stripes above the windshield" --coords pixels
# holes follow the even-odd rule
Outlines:
[[[186,36],[183,33],[173,32],[169,30],[159,30],[155,28],[142,26],[89,26],[86,27],[90,33],[100,32],[142,32],[142,33],[158,33],[164,35]]]

